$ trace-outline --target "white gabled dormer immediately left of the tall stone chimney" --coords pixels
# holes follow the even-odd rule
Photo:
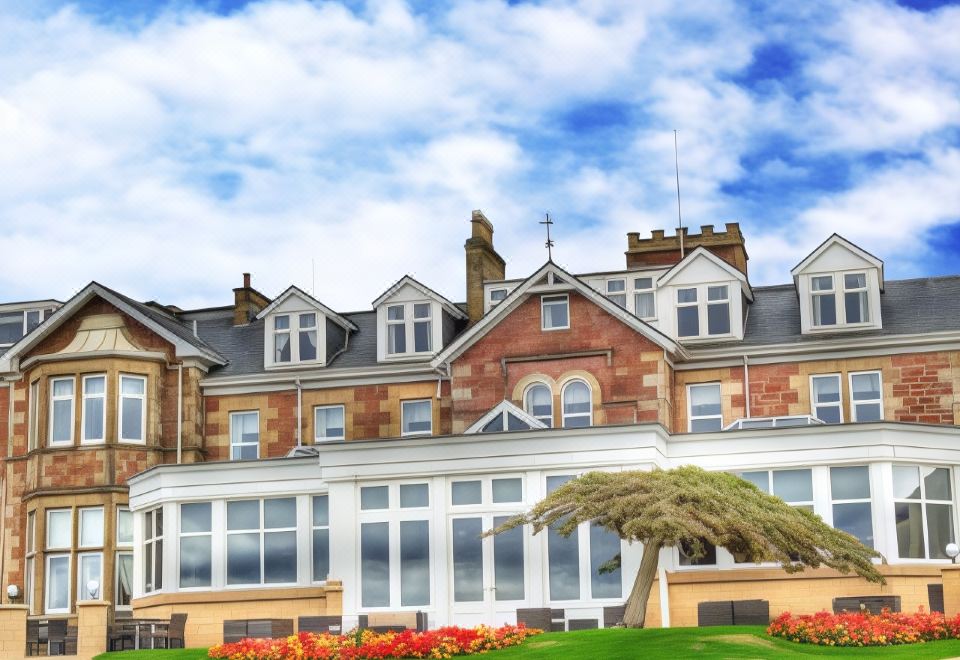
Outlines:
[[[377,361],[429,360],[467,321],[455,304],[405,275],[373,301],[377,311]]]

